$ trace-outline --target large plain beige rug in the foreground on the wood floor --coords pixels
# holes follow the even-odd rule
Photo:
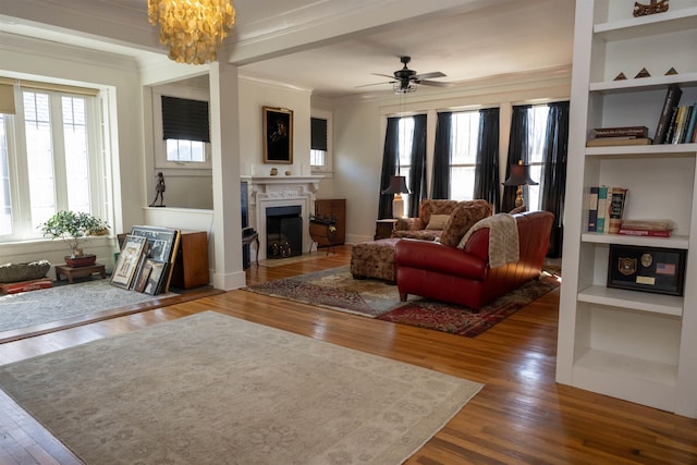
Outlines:
[[[400,464],[482,384],[205,311],[0,367],[87,464]]]

